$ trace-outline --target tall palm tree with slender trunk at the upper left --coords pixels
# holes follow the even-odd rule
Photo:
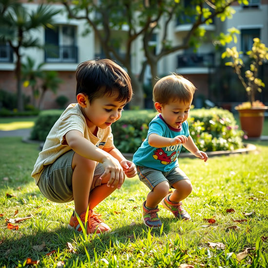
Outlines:
[[[52,27],[53,16],[59,11],[52,7],[39,5],[30,12],[18,0],[0,0],[0,41],[6,42],[16,54],[15,76],[17,79],[18,110],[23,111],[21,90],[21,48],[41,48],[39,38],[30,32],[40,27]]]

